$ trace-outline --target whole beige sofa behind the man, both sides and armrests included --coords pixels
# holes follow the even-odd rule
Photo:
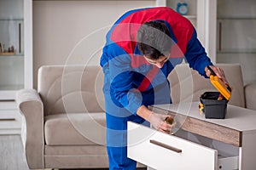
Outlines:
[[[243,87],[241,66],[219,66],[233,86],[229,104],[249,104],[256,110],[255,84]],[[216,90],[188,65],[177,65],[168,78],[173,103],[198,101],[203,92]],[[38,91],[17,93],[31,169],[108,167],[102,83],[99,66],[43,66],[38,71]]]

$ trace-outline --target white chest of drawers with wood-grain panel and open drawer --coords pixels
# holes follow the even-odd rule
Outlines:
[[[128,122],[128,157],[159,170],[255,170],[256,111],[228,105],[225,119],[206,119],[198,102],[155,105],[175,117],[175,135]]]

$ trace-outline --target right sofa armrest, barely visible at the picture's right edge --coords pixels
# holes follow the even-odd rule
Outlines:
[[[256,82],[247,84],[244,88],[246,107],[256,111]]]

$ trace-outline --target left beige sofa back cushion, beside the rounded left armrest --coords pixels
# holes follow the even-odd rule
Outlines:
[[[38,70],[38,94],[44,115],[102,112],[103,74],[100,66],[47,65]]]

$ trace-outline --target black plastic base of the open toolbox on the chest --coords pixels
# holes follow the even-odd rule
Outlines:
[[[205,92],[201,94],[200,101],[206,118],[224,119],[227,113],[229,100],[218,100],[219,92]]]

